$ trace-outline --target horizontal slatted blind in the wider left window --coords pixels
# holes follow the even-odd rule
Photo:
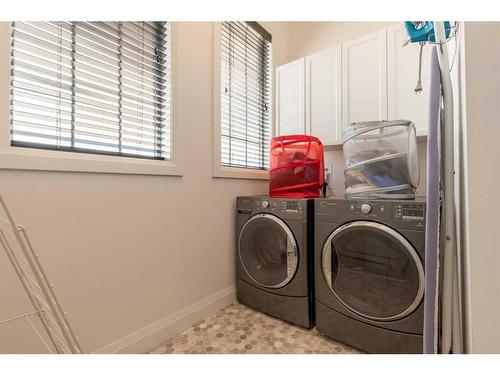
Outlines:
[[[167,22],[13,22],[12,145],[170,158]]]

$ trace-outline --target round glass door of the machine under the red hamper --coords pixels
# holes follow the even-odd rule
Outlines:
[[[245,271],[263,287],[281,288],[297,271],[295,238],[285,222],[274,215],[252,216],[241,229],[238,250]]]

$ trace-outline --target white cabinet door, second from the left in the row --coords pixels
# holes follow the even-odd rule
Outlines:
[[[342,143],[341,48],[306,57],[306,128],[325,145]]]

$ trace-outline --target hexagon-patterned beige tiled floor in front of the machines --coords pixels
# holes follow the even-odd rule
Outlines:
[[[347,345],[272,318],[241,304],[232,304],[150,353],[359,353]]]

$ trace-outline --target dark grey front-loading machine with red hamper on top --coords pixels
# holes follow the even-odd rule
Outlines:
[[[313,208],[310,199],[236,199],[238,300],[306,328],[314,322]]]

